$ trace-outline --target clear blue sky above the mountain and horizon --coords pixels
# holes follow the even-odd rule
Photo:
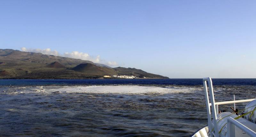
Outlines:
[[[255,7],[231,0],[6,0],[0,49],[78,51],[170,78],[256,78]]]

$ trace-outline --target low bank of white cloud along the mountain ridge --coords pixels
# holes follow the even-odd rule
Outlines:
[[[90,56],[87,53],[83,52],[78,52],[78,51],[72,51],[72,52],[65,52],[63,55],[60,54],[56,50],[51,50],[50,48],[47,49],[27,49],[25,47],[21,48],[21,51],[26,51],[26,52],[36,52],[36,53],[42,53],[46,55],[54,55],[54,56],[62,56],[62,57],[70,57],[70,58],[76,58],[76,59],[82,59],[82,60],[89,60],[94,63],[102,63],[106,64],[109,66],[117,66],[118,64],[116,61],[104,61],[100,59],[100,56],[98,55],[97,57]]]

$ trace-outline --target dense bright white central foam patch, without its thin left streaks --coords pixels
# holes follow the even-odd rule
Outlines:
[[[191,92],[194,88],[176,87],[164,88],[156,86],[136,86],[136,85],[120,85],[120,86],[67,86],[67,87],[45,87],[40,88],[42,92],[48,93],[88,93],[88,94],[168,94]]]

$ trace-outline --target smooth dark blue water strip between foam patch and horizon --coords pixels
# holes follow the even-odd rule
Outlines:
[[[256,79],[212,79],[213,85],[256,85]],[[85,80],[0,80],[0,86],[8,85],[202,85],[202,79],[85,79]]]

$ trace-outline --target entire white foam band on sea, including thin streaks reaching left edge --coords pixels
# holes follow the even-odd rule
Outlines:
[[[85,93],[85,94],[169,94],[169,93],[190,93],[200,90],[192,87],[156,87],[137,85],[108,85],[108,86],[39,86],[19,87],[10,90],[7,94],[61,94],[61,93]],[[6,91],[4,91],[6,92]],[[3,92],[2,92],[3,93]]]

